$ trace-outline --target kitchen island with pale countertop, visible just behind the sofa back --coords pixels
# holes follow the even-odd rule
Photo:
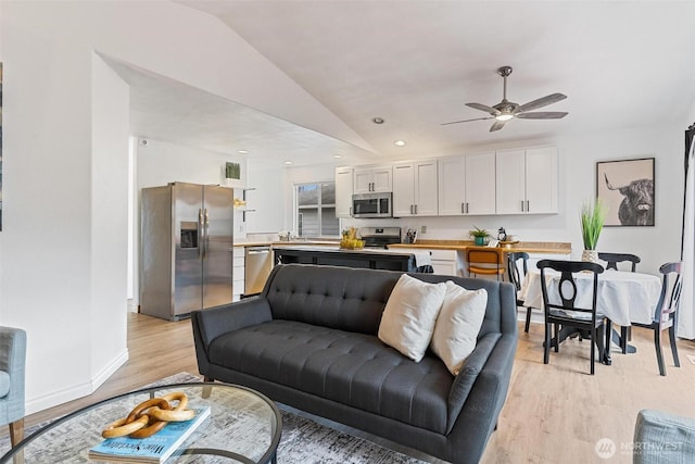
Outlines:
[[[341,250],[338,246],[274,246],[276,264],[317,264],[403,272],[432,272],[429,253],[418,250]]]

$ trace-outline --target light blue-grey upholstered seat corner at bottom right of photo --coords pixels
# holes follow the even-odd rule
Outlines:
[[[695,418],[655,410],[637,413],[634,427],[634,464],[692,463],[695,461]]]

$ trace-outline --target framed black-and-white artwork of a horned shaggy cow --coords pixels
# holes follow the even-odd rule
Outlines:
[[[605,226],[654,226],[654,158],[597,162],[596,198]]]

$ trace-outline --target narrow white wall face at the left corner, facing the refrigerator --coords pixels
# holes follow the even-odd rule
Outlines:
[[[91,59],[91,355],[90,390],[98,388],[128,359],[125,268],[128,211],[128,86],[101,58]],[[103,330],[110,327],[110,330]]]

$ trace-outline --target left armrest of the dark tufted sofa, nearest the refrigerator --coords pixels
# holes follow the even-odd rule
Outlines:
[[[191,319],[193,337],[207,352],[210,343],[220,335],[271,321],[273,315],[268,300],[253,297],[224,306],[193,311]]]

